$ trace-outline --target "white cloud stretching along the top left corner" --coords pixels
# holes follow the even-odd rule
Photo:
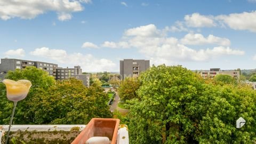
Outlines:
[[[71,13],[83,11],[81,3],[90,3],[89,0],[9,0],[0,1],[0,18],[8,20],[11,18],[34,19],[39,14],[55,11],[58,19],[69,20],[72,18]]]

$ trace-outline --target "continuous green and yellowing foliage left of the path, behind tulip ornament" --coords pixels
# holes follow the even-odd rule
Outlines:
[[[18,102],[14,124],[86,124],[93,117],[112,117],[101,84],[93,83],[88,88],[75,78],[55,82],[34,67],[10,71],[7,77],[28,79],[33,85],[27,98]],[[13,104],[7,100],[2,83],[0,99],[0,124],[8,124]]]

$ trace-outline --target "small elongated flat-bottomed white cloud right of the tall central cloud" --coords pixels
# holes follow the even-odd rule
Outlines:
[[[187,34],[181,40],[182,44],[185,45],[204,45],[204,44],[217,44],[222,46],[229,46],[230,41],[228,38],[217,37],[209,35],[204,37],[202,34]]]

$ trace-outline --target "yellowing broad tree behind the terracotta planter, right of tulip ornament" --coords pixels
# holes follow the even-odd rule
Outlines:
[[[57,81],[42,93],[33,99],[35,124],[87,124],[93,117],[112,117],[101,87],[87,88],[78,79]]]

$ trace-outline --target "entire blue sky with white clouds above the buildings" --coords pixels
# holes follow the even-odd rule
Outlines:
[[[0,57],[119,71],[119,60],[254,69],[256,0],[0,0]]]

